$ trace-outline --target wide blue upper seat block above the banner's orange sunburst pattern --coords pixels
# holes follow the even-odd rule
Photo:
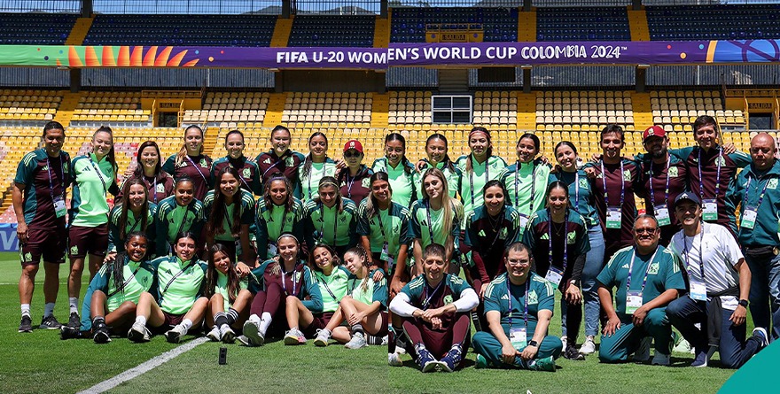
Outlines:
[[[84,45],[267,47],[276,15],[98,15]]]

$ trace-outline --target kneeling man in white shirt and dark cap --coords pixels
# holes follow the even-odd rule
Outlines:
[[[694,347],[691,367],[706,367],[717,348],[723,367],[738,368],[768,345],[768,335],[755,328],[745,341],[750,268],[729,230],[702,221],[701,212],[694,193],[675,198],[683,230],[672,237],[669,248],[683,262],[690,291],[667,306],[667,318]]]

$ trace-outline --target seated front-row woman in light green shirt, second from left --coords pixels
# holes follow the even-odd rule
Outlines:
[[[203,294],[203,279],[207,264],[195,258],[195,240],[192,233],[176,236],[175,256],[164,256],[152,260],[157,267],[157,287],[144,292],[138,299],[136,322],[128,332],[133,342],[148,342],[151,336],[148,325],[165,330],[165,338],[178,344],[192,327],[199,327],[206,313],[208,298]]]

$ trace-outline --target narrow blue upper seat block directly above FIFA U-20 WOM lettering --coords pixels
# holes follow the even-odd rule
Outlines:
[[[374,15],[297,15],[287,45],[372,47],[375,20]]]

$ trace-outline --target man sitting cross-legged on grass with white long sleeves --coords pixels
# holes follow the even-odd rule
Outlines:
[[[452,372],[468,350],[472,321],[469,312],[480,303],[477,293],[461,278],[447,274],[444,247],[432,243],[423,251],[423,274],[390,303],[403,318],[407,352],[423,372]]]

